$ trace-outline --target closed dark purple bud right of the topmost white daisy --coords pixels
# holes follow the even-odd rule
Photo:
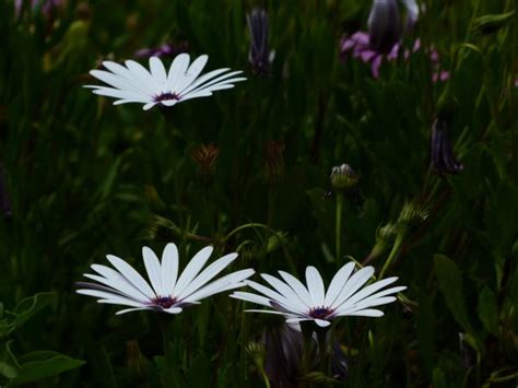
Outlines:
[[[258,75],[267,75],[275,58],[275,51],[268,46],[268,14],[264,10],[254,9],[246,16],[250,32],[248,61]]]

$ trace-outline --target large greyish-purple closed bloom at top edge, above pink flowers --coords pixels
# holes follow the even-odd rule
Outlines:
[[[368,16],[369,45],[388,54],[401,38],[401,19],[397,0],[374,0]]]

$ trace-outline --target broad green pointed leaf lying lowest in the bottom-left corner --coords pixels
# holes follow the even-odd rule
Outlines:
[[[21,373],[13,385],[37,381],[80,367],[85,362],[52,351],[36,351],[19,358]]]

